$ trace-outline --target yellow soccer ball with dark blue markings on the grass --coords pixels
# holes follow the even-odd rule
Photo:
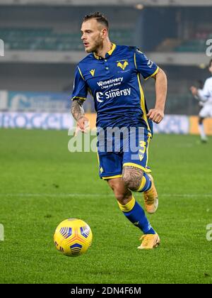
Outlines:
[[[57,250],[69,257],[86,253],[92,239],[90,226],[81,219],[66,219],[59,223],[54,232],[54,245]]]

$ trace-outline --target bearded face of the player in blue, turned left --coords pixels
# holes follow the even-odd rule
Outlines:
[[[81,40],[87,53],[98,52],[98,49],[102,48],[102,26],[95,18],[82,23],[81,33]]]

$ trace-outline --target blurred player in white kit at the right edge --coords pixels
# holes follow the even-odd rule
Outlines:
[[[208,70],[212,75],[212,59],[209,62]],[[199,105],[202,106],[199,112],[199,132],[201,141],[206,143],[207,137],[204,131],[204,119],[212,117],[212,77],[206,79],[203,89],[197,89],[192,86],[191,92],[194,95],[194,98],[199,100]]]

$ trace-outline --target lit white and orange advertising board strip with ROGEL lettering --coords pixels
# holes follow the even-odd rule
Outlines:
[[[95,128],[96,114],[86,114],[90,129]],[[212,118],[204,122],[212,136]],[[0,112],[0,128],[70,129],[76,126],[71,113]],[[160,124],[153,124],[154,133],[199,134],[197,116],[166,115]]]

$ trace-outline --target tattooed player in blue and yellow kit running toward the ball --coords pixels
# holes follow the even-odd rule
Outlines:
[[[158,247],[160,238],[132,192],[143,192],[146,211],[156,211],[158,194],[147,165],[148,144],[152,121],[160,123],[164,117],[167,79],[165,72],[138,48],[111,43],[108,31],[108,21],[102,13],[83,18],[81,40],[89,55],[76,67],[71,113],[78,129],[84,132],[88,118],[83,102],[89,91],[97,111],[100,178],[112,188],[124,216],[143,232],[139,249],[152,249]],[[140,74],[144,79],[155,79],[156,102],[150,111],[146,108]],[[121,138],[120,150],[115,145],[110,150],[100,150],[100,131],[106,132],[107,128],[125,128],[129,132],[125,143]],[[105,134],[106,142],[110,137]],[[111,140],[114,142],[115,137]],[[136,152],[131,150],[133,142]],[[129,145],[129,150],[124,150],[124,144]]]

